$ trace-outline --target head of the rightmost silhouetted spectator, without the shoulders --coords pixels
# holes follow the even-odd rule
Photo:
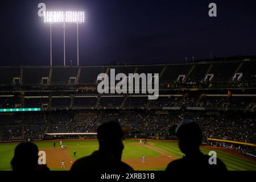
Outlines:
[[[183,119],[176,128],[176,136],[179,140],[180,150],[185,154],[195,154],[199,152],[199,146],[202,142],[202,131],[197,125],[189,119]]]

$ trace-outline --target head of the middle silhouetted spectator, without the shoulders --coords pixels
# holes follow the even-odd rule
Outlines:
[[[121,160],[123,151],[123,130],[115,121],[103,123],[97,129],[97,138],[101,152],[109,152]]]

